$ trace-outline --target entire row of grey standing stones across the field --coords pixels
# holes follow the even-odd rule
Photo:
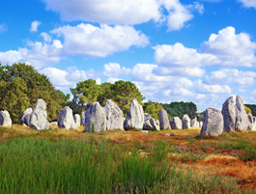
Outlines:
[[[256,130],[256,117],[250,113],[247,115],[242,103],[242,97],[236,97],[236,104],[233,97],[229,97],[222,105],[222,111],[214,108],[207,108],[204,123],[197,122],[196,118],[190,120],[184,115],[183,120],[174,117],[168,120],[167,112],[161,110],[158,113],[159,121],[154,120],[150,114],[144,113],[142,106],[136,99],[130,103],[128,117],[124,118],[123,111],[112,100],[108,99],[105,106],[101,107],[99,102],[94,102],[81,115],[72,115],[70,107],[66,106],[59,114],[58,122],[49,123],[46,120],[46,103],[38,99],[35,108],[28,108],[22,115],[22,124],[31,128],[41,130],[49,125],[58,125],[60,128],[76,129],[84,125],[85,131],[103,131],[107,129],[186,129],[191,126],[201,127],[201,136],[219,136],[223,130],[234,132],[235,129]],[[12,120],[8,111],[0,111],[0,125],[12,126]]]

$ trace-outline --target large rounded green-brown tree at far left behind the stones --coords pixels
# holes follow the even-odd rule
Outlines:
[[[58,119],[65,99],[49,79],[32,66],[0,64],[0,80],[0,110],[7,110],[14,123],[20,123],[23,111],[34,108],[38,98],[47,104],[47,119],[50,122]]]

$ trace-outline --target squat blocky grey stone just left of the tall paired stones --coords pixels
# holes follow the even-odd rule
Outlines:
[[[223,116],[214,108],[207,108],[204,125],[201,128],[200,136],[219,136],[223,132]]]

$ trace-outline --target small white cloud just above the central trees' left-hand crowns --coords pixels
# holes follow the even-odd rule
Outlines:
[[[104,65],[104,69],[102,72],[102,75],[107,76],[107,77],[113,77],[113,76],[119,76],[120,74],[125,74],[127,75],[130,72],[130,69],[126,69],[123,67],[121,69],[120,64],[117,63],[108,63]]]

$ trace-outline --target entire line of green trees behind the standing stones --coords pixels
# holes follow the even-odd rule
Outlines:
[[[72,98],[71,98],[72,95]],[[185,114],[190,118],[196,116],[196,105],[193,102],[157,103],[152,100],[143,102],[138,88],[130,81],[119,80],[115,83],[97,84],[96,80],[87,79],[77,82],[71,88],[71,95],[65,95],[57,90],[48,77],[38,72],[32,66],[24,63],[14,63],[12,66],[2,66],[0,63],[0,110],[10,113],[13,123],[20,123],[22,113],[29,107],[34,107],[38,98],[43,98],[47,104],[47,120],[57,121],[59,112],[65,106],[70,106],[73,114],[80,114],[95,101],[104,106],[107,99],[113,100],[127,117],[129,103],[133,98],[143,106],[144,112],[158,120],[161,109],[167,111],[169,119]],[[249,107],[249,106],[248,106]]]

